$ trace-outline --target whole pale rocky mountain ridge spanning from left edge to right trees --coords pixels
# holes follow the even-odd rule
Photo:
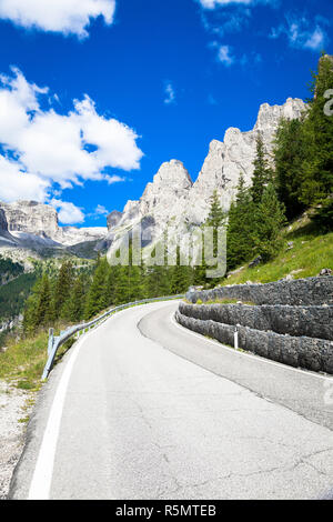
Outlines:
[[[109,248],[115,251],[124,234],[139,224],[142,225],[144,245],[159,241],[167,227],[172,225],[178,234],[200,227],[208,215],[214,190],[228,211],[241,172],[245,183],[251,184],[258,135],[261,134],[270,158],[281,118],[301,118],[305,108],[297,98],[287,98],[282,106],[262,103],[252,130],[242,132],[231,127],[223,141],[211,141],[195,181],[180,160],[163,162],[142,197],[138,201],[129,200],[122,212],[111,212],[105,228],[60,227],[58,212],[50,204],[0,202],[0,253],[20,249],[29,251],[30,255],[49,250],[75,254],[81,250],[85,252],[85,247],[92,252]]]

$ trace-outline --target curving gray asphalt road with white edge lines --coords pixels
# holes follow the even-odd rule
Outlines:
[[[330,495],[333,379],[193,334],[175,308],[124,310],[72,348],[40,393],[10,498]]]

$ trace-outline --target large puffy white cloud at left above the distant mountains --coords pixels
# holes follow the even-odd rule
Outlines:
[[[12,77],[1,76],[0,82],[1,158],[7,161],[6,169],[0,168],[0,199],[18,199],[7,187],[13,169],[16,177],[24,173],[24,183],[31,180],[29,198],[44,201],[54,183],[61,189],[85,180],[111,184],[123,179],[105,173],[107,168],[140,168],[143,153],[135,131],[98,114],[88,96],[74,100],[72,111],[60,114],[52,108],[41,109],[40,98],[48,102],[49,89],[29,83],[18,69]]]

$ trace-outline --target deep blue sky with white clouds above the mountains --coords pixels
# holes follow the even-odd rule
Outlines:
[[[261,103],[309,96],[329,0],[0,0],[0,200],[104,225],[160,164],[193,180]]]

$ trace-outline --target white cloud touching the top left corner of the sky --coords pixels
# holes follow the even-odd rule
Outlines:
[[[27,29],[87,38],[90,21],[103,17],[111,24],[115,0],[0,0],[0,18]]]

